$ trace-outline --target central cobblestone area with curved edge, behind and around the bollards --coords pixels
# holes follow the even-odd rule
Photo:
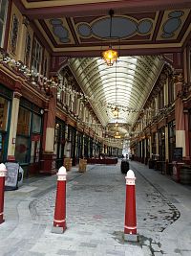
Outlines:
[[[180,217],[176,207],[136,172],[138,229],[160,232]],[[34,220],[53,220],[55,193],[35,199],[30,208]],[[67,222],[123,229],[125,178],[117,166],[98,166],[67,186]]]

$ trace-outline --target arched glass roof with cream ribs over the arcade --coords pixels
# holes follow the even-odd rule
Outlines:
[[[120,57],[113,66],[102,58],[70,59],[74,76],[103,126],[136,122],[163,64],[158,56]]]

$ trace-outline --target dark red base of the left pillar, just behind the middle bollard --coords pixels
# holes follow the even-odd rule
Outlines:
[[[55,168],[56,155],[52,153],[44,153],[41,159],[40,174],[41,175],[55,175],[57,169]]]

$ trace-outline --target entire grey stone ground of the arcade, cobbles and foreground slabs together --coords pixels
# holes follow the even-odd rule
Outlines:
[[[56,176],[31,178],[5,196],[2,256],[191,255],[191,190],[131,161],[139,243],[123,240],[125,175],[116,166],[67,175],[67,230],[53,234]]]

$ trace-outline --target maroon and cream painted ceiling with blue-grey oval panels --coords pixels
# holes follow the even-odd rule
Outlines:
[[[24,14],[52,51],[68,57],[101,56],[109,43],[120,49],[121,56],[166,53],[168,48],[181,51],[191,33],[188,0],[112,1],[111,36],[109,0],[15,2],[22,3]]]

